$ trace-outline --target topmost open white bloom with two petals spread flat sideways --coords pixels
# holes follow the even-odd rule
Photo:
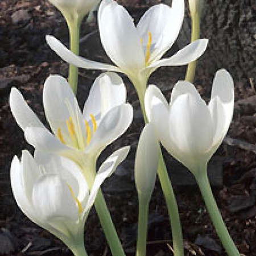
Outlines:
[[[173,0],[172,7],[164,4],[151,7],[135,26],[125,8],[113,0],[103,0],[98,9],[101,42],[117,67],[79,57],[53,36],[47,36],[47,42],[68,63],[85,69],[125,73],[136,86],[138,81],[145,83],[159,67],[185,65],[204,53],[208,40],[200,39],[174,56],[161,59],[179,35],[183,18],[184,0]]]

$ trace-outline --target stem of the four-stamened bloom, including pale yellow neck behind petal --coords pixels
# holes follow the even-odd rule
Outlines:
[[[95,168],[96,168],[95,164],[90,166],[89,168],[82,168],[83,173],[85,175],[85,179],[90,189],[93,186],[94,178],[96,175]],[[110,216],[110,213],[101,189],[98,189],[98,194],[94,201],[94,206],[96,208],[98,217],[100,218],[101,226],[105,233],[106,240],[108,241],[108,245],[110,247],[110,251],[112,255],[125,256],[125,253],[123,251],[121,242],[118,238],[117,231],[115,230],[112,218]]]

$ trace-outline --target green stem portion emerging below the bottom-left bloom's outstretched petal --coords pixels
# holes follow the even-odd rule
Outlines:
[[[108,241],[110,250],[113,256],[125,256],[121,242],[118,238],[117,232],[114,228],[112,218],[109,214],[104,196],[101,189],[98,190],[98,195],[94,201],[94,206],[97,210],[98,217],[100,218],[102,228],[104,230],[106,240]]]

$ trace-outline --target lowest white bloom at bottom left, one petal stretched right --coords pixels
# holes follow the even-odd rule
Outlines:
[[[61,156],[22,152],[10,168],[11,188],[19,208],[31,221],[60,238],[72,250],[84,246],[84,224],[103,181],[126,158],[129,147],[101,165],[92,189],[79,167]]]

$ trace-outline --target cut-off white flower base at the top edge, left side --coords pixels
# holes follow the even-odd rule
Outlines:
[[[100,0],[49,0],[60,12],[65,19],[82,19],[92,10]]]

